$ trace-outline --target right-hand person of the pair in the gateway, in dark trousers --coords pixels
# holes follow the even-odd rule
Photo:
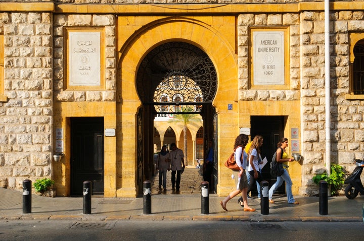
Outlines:
[[[175,143],[172,143],[170,145],[170,148],[172,149],[169,153],[169,157],[171,159],[171,170],[172,170],[172,176],[171,176],[172,190],[173,191],[176,190],[178,193],[181,170],[182,168],[185,168],[185,159],[184,159],[185,155],[183,154],[183,151],[181,149],[177,148]]]

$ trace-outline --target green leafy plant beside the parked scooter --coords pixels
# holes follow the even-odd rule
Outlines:
[[[326,171],[322,174],[316,174],[312,177],[315,184],[319,185],[321,180],[325,180],[331,187],[331,196],[337,195],[345,181],[344,168],[338,164],[331,164],[331,174],[327,175]]]

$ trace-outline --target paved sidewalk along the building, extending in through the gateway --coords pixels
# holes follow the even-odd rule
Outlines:
[[[168,179],[169,180],[169,179]],[[364,196],[353,200],[346,197],[328,198],[328,215],[319,213],[319,197],[295,199],[299,205],[287,203],[287,198],[275,196],[269,204],[269,214],[262,215],[260,200],[248,200],[255,212],[244,212],[235,197],[228,212],[220,206],[224,197],[209,195],[209,214],[201,214],[200,186],[202,177],[198,169],[188,168],[181,177],[180,194],[167,186],[165,194],[158,192],[158,177],[152,180],[152,214],[143,214],[142,198],[92,197],[92,214],[83,214],[82,197],[43,197],[32,195],[32,213],[22,213],[22,193],[0,188],[0,219],[72,219],[72,220],[244,220],[244,221],[363,221]]]

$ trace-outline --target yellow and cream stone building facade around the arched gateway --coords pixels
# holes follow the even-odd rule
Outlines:
[[[327,153],[324,7],[324,1],[300,0],[2,1],[0,186],[20,190],[26,178],[51,177],[57,195],[72,195],[83,173],[73,164],[79,155],[73,127],[82,127],[82,118],[100,117],[101,194],[140,195],[143,180],[150,178],[154,116],[140,87],[148,78],[139,79],[150,70],[141,63],[158,46],[178,42],[180,48],[202,50],[216,70],[209,103],[214,113],[203,119],[210,123],[204,127],[207,136],[215,139],[217,194],[224,196],[234,186],[224,160],[235,137],[259,134],[273,118],[281,123],[275,126],[279,130],[264,129],[265,135],[287,137],[294,146],[289,153],[303,157],[289,168],[293,193],[317,194],[312,176],[326,169]],[[364,39],[363,9],[364,1],[330,1],[330,161],[348,171],[354,159],[364,159],[364,95],[355,92],[353,80],[354,47]],[[100,69],[90,74],[96,84],[72,70],[72,57],[94,51],[70,48],[77,34],[97,40],[99,55],[90,64]],[[264,42],[262,35],[270,34],[278,43]],[[264,68],[280,69],[259,71],[263,61],[269,62],[259,57],[260,50],[270,51],[262,46],[258,51],[262,44],[277,44],[283,52],[277,50],[280,60]],[[279,84],[269,78],[276,70]],[[264,73],[266,79],[260,78]],[[272,140],[264,141],[267,159]],[[64,154],[59,162],[56,153]]]

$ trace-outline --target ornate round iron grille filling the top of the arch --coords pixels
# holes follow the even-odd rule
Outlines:
[[[217,75],[204,51],[189,43],[169,42],[146,55],[136,85],[143,103],[153,104],[157,113],[196,113],[212,103]]]

